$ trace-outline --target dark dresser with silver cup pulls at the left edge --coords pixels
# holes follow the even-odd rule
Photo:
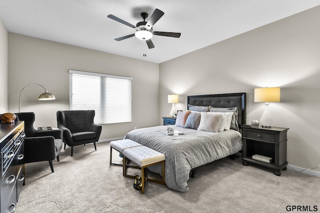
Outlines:
[[[24,183],[24,122],[0,124],[0,213],[13,213]]]

